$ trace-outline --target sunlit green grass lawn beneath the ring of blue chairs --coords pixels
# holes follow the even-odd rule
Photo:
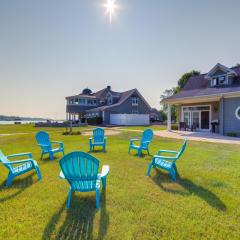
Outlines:
[[[7,170],[0,165],[0,239],[239,239],[240,149],[238,145],[190,142],[177,162],[180,179],[152,170],[151,157],[127,154],[129,139],[140,133],[123,131],[109,136],[107,152],[97,152],[101,165],[110,165],[101,207],[95,193],[75,193],[66,209],[69,185],[58,178],[59,159],[40,160],[35,142],[39,129],[31,125],[1,126],[5,154],[32,152],[42,172],[18,177],[4,187]],[[48,129],[52,140],[63,141],[66,153],[88,151],[87,136],[63,136]],[[150,151],[177,150],[181,141],[155,137]]]

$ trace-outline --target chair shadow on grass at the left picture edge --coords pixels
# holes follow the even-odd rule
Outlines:
[[[31,186],[33,184],[33,175],[35,175],[35,172],[32,172],[30,175],[28,175],[27,177],[23,178],[23,179],[15,179],[12,183],[12,185],[10,187],[6,187],[5,186],[5,182],[4,181],[1,185],[0,185],[0,192],[5,191],[6,189],[17,189],[17,191],[15,191],[14,193],[11,193],[10,195],[4,196],[0,198],[0,202],[5,202],[8,201],[10,199],[15,198],[16,196],[18,196],[19,194],[21,194],[22,192],[24,192],[29,186]]]

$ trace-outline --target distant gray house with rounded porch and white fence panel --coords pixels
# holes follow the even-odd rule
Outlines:
[[[93,93],[87,88],[66,100],[67,120],[100,117],[104,124],[149,124],[151,107],[137,89],[115,92],[107,86]]]

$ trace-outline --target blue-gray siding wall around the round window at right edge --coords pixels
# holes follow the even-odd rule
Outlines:
[[[240,120],[235,116],[237,107],[240,106],[240,97],[223,99],[223,134],[240,132]]]

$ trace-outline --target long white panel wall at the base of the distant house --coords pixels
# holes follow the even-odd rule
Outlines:
[[[149,125],[149,114],[110,114],[113,125]]]

